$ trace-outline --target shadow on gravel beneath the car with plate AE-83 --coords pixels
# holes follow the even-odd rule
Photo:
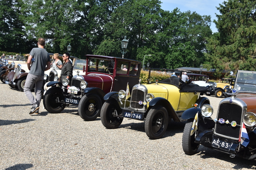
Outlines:
[[[200,145],[198,151],[199,152],[197,153],[197,155],[200,156],[200,158],[204,158],[204,159],[216,158],[219,160],[230,162],[231,164],[234,164],[232,168],[236,170],[241,170],[243,168],[256,170],[255,160],[247,160],[239,157],[230,158],[230,154],[213,150],[213,149],[204,147],[202,145]]]

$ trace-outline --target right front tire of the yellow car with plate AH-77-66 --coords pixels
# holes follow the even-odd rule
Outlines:
[[[148,112],[145,131],[150,139],[161,138],[168,126],[168,112],[163,106],[154,106]]]

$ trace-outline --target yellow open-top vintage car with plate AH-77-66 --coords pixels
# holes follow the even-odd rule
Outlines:
[[[181,77],[181,72],[172,70]],[[150,73],[150,71],[149,71]],[[100,118],[107,129],[116,129],[122,123],[124,117],[145,121],[146,135],[150,139],[161,138],[168,126],[168,122],[181,122],[182,113],[195,103],[201,107],[210,104],[206,97],[200,97],[200,93],[206,92],[206,87],[196,84],[181,84],[181,78],[171,76],[167,79],[152,80],[149,84],[138,84],[123,88],[125,90],[114,91],[106,94],[106,102],[102,106]],[[150,79],[150,76],[149,78]],[[151,79],[150,79],[151,80]]]

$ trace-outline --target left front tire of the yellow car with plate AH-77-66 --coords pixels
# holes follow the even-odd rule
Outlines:
[[[114,117],[112,114],[114,111],[116,111],[118,115],[122,115],[122,109],[116,100],[109,99],[102,105],[100,111],[100,120],[107,129],[118,128],[124,119],[124,117]]]

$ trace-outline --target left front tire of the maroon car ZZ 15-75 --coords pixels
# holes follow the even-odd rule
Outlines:
[[[57,100],[63,103],[57,103]],[[62,93],[62,89],[59,87],[52,87],[44,94],[44,108],[50,113],[60,113],[66,107],[64,100],[65,97]]]

